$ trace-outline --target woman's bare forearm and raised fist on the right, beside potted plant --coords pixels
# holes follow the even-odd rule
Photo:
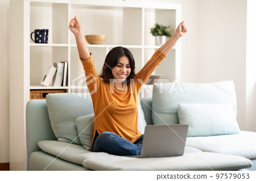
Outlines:
[[[176,28],[176,31],[174,35],[172,35],[166,43],[162,45],[162,47],[159,48],[160,52],[162,52],[164,55],[168,55],[172,48],[174,48],[174,45],[176,44],[177,40],[185,33],[187,32],[187,27],[184,25],[184,21],[179,24],[179,26]]]

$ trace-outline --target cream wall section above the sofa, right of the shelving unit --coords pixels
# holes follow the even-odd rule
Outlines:
[[[201,0],[200,11],[212,0]],[[214,1],[199,17],[199,79],[233,79],[237,94],[237,121],[246,129],[246,1]]]

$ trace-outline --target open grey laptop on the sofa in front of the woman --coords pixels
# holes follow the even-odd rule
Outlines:
[[[177,157],[184,154],[188,124],[147,125],[137,158]]]

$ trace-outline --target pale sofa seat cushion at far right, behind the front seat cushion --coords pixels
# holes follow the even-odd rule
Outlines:
[[[187,137],[186,144],[202,151],[256,158],[256,133],[240,131],[238,134]]]

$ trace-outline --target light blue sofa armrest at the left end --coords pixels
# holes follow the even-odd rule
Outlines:
[[[51,128],[46,100],[30,100],[26,107],[27,168],[30,154],[41,151],[38,141],[42,140],[57,140]]]

